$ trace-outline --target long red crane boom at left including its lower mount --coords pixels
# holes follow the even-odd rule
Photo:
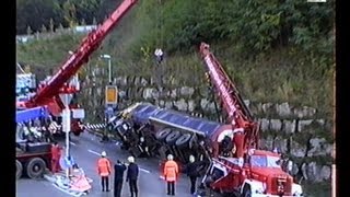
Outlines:
[[[137,0],[124,0],[109,18],[96,30],[92,31],[81,43],[78,49],[62,63],[60,70],[49,81],[37,90],[37,93],[27,102],[25,107],[48,105],[50,113],[58,116],[63,108],[59,93],[75,93],[74,86],[67,82],[89,60],[89,57],[102,44],[104,38],[118,24],[122,16],[137,3]]]

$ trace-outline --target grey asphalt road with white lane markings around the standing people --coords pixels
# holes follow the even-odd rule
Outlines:
[[[115,162],[117,159],[127,161],[129,157],[126,151],[119,149],[115,142],[102,143],[100,138],[90,134],[82,134],[80,137],[71,139],[71,155],[74,158],[78,165],[83,167],[88,177],[92,178],[93,189],[89,196],[113,196],[113,193],[102,193],[100,177],[96,174],[96,162],[102,151],[107,152],[107,157]],[[139,197],[163,197],[166,196],[165,182],[160,177],[161,171],[155,159],[136,159],[136,163],[140,167],[139,177]],[[113,184],[113,183],[112,183]],[[52,186],[45,181],[18,181],[16,196],[50,196],[50,197],[67,197],[66,193]],[[128,184],[122,187],[122,197],[130,196]],[[185,175],[179,177],[176,185],[176,196],[189,197],[189,181]]]

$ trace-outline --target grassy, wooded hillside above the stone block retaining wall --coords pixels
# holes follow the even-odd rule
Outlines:
[[[162,47],[166,53],[163,76],[179,85],[202,85],[205,70],[198,46],[207,42],[244,99],[311,106],[319,117],[330,120],[332,3],[141,0],[94,53],[81,74],[91,76],[92,68],[106,67],[97,57],[109,54],[116,77],[155,77],[153,51]],[[48,73],[78,47],[83,36],[65,34],[20,44],[18,61]],[[329,184],[316,196],[322,196],[324,189],[328,190]]]

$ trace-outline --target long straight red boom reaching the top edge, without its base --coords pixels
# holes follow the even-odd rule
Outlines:
[[[137,0],[124,0],[102,25],[83,39],[80,47],[66,60],[60,70],[50,78],[43,89],[38,90],[28,103],[35,106],[58,95],[65,83],[89,60],[90,55],[97,49],[107,34],[136,2]]]

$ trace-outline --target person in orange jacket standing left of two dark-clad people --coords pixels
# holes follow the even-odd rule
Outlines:
[[[97,172],[101,176],[102,192],[109,192],[110,162],[106,158],[107,153],[103,151],[97,162]]]

